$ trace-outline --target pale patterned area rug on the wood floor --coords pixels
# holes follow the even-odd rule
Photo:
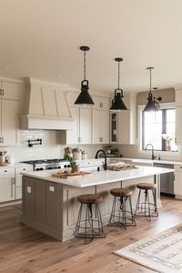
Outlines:
[[[157,272],[182,272],[182,224],[114,253]]]

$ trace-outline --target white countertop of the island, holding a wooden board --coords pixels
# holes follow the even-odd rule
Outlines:
[[[91,187],[96,185],[102,185],[117,181],[126,181],[129,179],[135,179],[139,177],[150,177],[154,175],[165,174],[174,172],[174,169],[162,168],[162,167],[141,167],[138,166],[134,169],[121,170],[121,171],[95,171],[85,176],[57,178],[52,177],[56,170],[46,170],[37,172],[22,172],[26,177],[35,177],[38,179],[44,179],[47,181],[66,184],[73,187]]]

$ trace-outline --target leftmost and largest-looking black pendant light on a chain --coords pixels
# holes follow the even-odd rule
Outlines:
[[[88,81],[86,80],[86,51],[90,48],[86,45],[80,46],[80,50],[84,51],[84,80],[81,83],[81,93],[76,98],[75,105],[94,105],[92,97],[88,93]]]

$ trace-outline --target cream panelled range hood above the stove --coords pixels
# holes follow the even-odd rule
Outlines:
[[[66,86],[28,78],[24,94],[25,110],[20,116],[22,129],[69,130],[73,126],[66,101]]]

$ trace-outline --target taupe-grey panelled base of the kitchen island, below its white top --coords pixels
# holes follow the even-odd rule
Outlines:
[[[103,223],[106,225],[113,202],[110,189],[121,186],[132,188],[134,190],[132,202],[135,209],[138,193],[136,183],[139,182],[154,183],[154,177],[140,177],[122,183],[118,181],[90,187],[73,187],[24,175],[21,222],[53,238],[65,241],[73,238],[76,227],[80,206],[76,200],[77,196],[89,193],[101,194],[104,201],[100,204],[100,209]],[[157,202],[159,204],[159,197]]]

